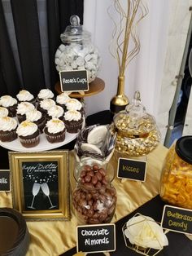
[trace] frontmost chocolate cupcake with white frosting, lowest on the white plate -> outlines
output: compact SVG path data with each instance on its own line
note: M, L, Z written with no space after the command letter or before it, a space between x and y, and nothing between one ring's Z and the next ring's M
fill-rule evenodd
M33 121L22 121L17 127L16 133L24 148L33 148L40 142L38 126Z

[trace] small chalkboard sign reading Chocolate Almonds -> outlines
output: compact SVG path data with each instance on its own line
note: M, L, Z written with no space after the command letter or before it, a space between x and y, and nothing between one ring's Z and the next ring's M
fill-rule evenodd
M78 226L76 228L77 252L98 253L116 250L115 224Z

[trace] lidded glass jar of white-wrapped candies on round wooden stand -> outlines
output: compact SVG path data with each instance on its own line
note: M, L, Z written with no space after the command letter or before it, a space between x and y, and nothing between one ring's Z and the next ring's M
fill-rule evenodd
M70 17L70 23L60 38L63 42L55 53L56 69L87 70L88 81L94 81L98 74L100 56L91 42L91 34L83 29L77 15Z

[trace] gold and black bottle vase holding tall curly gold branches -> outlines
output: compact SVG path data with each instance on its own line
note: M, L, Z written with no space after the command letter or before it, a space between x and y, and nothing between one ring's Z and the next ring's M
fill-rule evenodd
M111 15L111 7L108 8L108 14L114 24L109 48L111 55L116 58L119 68L117 95L111 99L110 103L111 113L114 114L129 104L129 99L124 95L124 73L130 61L140 51L137 25L147 15L148 8L143 0L112 0L112 2L119 16L119 22L117 22Z

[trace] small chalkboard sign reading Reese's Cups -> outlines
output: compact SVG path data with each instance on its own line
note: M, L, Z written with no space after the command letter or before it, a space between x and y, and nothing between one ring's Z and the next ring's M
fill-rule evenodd
M86 70L60 71L61 91L86 91L89 83Z

